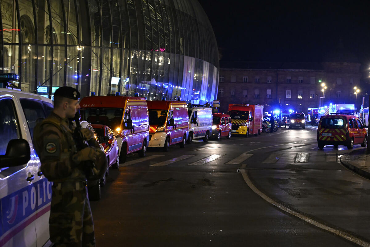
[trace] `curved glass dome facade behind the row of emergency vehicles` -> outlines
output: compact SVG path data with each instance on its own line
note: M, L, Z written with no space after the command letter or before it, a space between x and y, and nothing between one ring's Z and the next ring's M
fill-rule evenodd
M3 0L0 15L0 70L23 91L216 99L216 39L196 0Z

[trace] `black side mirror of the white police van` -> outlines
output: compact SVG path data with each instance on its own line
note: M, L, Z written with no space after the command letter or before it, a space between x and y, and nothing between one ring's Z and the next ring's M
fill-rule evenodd
M6 147L5 155L0 155L0 168L20 166L31 159L31 150L28 141L12 139Z

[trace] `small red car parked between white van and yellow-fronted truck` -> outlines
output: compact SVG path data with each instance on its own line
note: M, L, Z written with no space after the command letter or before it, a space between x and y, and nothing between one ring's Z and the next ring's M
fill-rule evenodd
M221 137L231 138L231 117L227 114L213 113L212 137L220 140Z

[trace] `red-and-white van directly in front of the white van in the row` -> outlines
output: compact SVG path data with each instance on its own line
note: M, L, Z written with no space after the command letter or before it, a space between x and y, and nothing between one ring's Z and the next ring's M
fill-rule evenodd
M188 107L185 101L148 100L149 147L162 147L168 151L170 145L185 147L189 131Z

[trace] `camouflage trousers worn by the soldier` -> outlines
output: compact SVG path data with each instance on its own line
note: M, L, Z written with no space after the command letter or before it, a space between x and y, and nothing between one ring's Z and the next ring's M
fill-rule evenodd
M56 247L95 246L87 187L79 184L65 182L52 187L49 230Z

